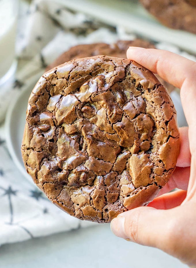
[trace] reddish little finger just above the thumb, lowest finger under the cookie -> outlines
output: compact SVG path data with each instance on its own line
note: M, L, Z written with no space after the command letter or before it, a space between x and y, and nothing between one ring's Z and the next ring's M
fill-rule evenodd
M148 207L154 207L161 210L168 210L170 208L181 205L181 203L184 201L185 198L186 198L186 191L177 190L155 198L152 202L150 202L150 204L148 204Z

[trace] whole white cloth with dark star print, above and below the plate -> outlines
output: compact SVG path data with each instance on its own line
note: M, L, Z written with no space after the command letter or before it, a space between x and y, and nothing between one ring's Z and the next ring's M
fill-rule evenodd
M63 0L35 0L30 8L20 2L17 38L18 71L15 82L6 93L10 100L21 92L31 76L44 69L62 52L77 44L113 43L117 39L135 39L124 29L104 25L92 18L73 12ZM181 52L168 44L159 48ZM186 54L185 54L186 53ZM6 105L0 90L0 113ZM93 225L69 216L53 205L33 184L30 184L14 165L0 129L0 245L50 235Z

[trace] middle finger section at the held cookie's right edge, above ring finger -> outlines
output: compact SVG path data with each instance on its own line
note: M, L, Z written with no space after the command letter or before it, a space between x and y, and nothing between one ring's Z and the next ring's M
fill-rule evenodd
M178 167L190 167L191 153L189 150L188 127L180 127L180 154L177 160Z

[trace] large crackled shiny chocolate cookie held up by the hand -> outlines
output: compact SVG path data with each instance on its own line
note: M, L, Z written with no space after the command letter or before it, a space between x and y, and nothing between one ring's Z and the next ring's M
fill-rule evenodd
M27 172L80 219L110 222L148 204L174 171L179 146L167 90L127 59L69 61L45 73L29 97Z

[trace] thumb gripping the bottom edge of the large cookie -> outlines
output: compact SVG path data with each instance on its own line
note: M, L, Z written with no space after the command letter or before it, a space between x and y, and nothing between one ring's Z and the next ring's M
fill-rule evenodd
M172 223L168 210L137 207L123 212L111 222L114 235L145 246L163 248L169 243ZM171 223L169 223L169 219Z

